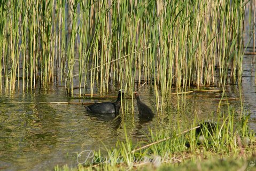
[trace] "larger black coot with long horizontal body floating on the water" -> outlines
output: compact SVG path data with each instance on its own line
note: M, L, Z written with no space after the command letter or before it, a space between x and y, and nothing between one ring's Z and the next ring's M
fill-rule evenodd
M122 92L122 97L124 96L125 95ZM92 113L115 114L115 116L117 116L119 113L120 106L121 106L121 90L119 90L117 101L115 101L114 103L112 102L95 103L93 105L84 106L84 107L86 107L87 111L90 111Z

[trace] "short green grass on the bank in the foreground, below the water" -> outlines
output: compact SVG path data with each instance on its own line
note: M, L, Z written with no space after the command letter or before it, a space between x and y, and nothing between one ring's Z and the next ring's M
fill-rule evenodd
M169 126L150 130L148 141L136 144L126 135L125 142L106 148L106 153L99 150L78 154L81 165L74 170L245 169L256 159L255 133L247 126L250 115L235 120L235 114L231 108L228 113L219 113L213 133L203 127L204 138L196 136L196 129L189 129L196 128L196 120L188 128Z

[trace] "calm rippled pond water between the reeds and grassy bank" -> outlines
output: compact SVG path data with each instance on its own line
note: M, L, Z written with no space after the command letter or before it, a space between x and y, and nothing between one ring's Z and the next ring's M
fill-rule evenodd
M252 71L249 69L252 68L251 58L246 58L245 63L247 62L242 97L245 108L253 113L250 127L256 130L254 67ZM139 92L142 100L156 112L153 89L144 86ZM116 96L117 91L113 90L110 95ZM214 99L219 99L220 96L221 92L188 94L183 114L177 115L177 97L174 95L168 101L162 100L165 105L161 118L156 117L143 123L138 118L136 104L134 115L130 110L126 117L112 121L112 116L103 118L87 113L82 105L37 103L79 102L79 99L65 95L63 87L52 86L48 90L37 90L35 94L1 95L0 169L52 170L54 166L64 164L75 167L77 153L104 149L103 144L114 146L118 139L123 141L124 122L128 136L135 142L145 137L148 127L165 127L168 123L175 124L177 120L190 123L196 113L202 120L216 118L219 101ZM227 97L239 97L238 87L227 86ZM80 102L91 100L82 99ZM133 102L127 99L126 103L130 106ZM227 103L223 104L222 110L225 110ZM229 105L238 111L240 109L239 100L232 100Z

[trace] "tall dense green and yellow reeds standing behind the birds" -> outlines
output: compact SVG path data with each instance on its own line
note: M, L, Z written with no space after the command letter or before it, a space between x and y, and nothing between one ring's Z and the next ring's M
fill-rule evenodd
M4 1L0 90L240 83L245 1Z

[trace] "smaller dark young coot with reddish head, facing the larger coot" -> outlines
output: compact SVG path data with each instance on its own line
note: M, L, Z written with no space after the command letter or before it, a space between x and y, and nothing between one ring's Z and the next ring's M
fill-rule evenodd
M141 98L139 98L139 94L137 92L134 92L134 95L137 100L139 115L142 118L148 118L148 119L153 118L154 113L152 112L151 108L149 108L149 106L147 106L145 103L141 102Z

